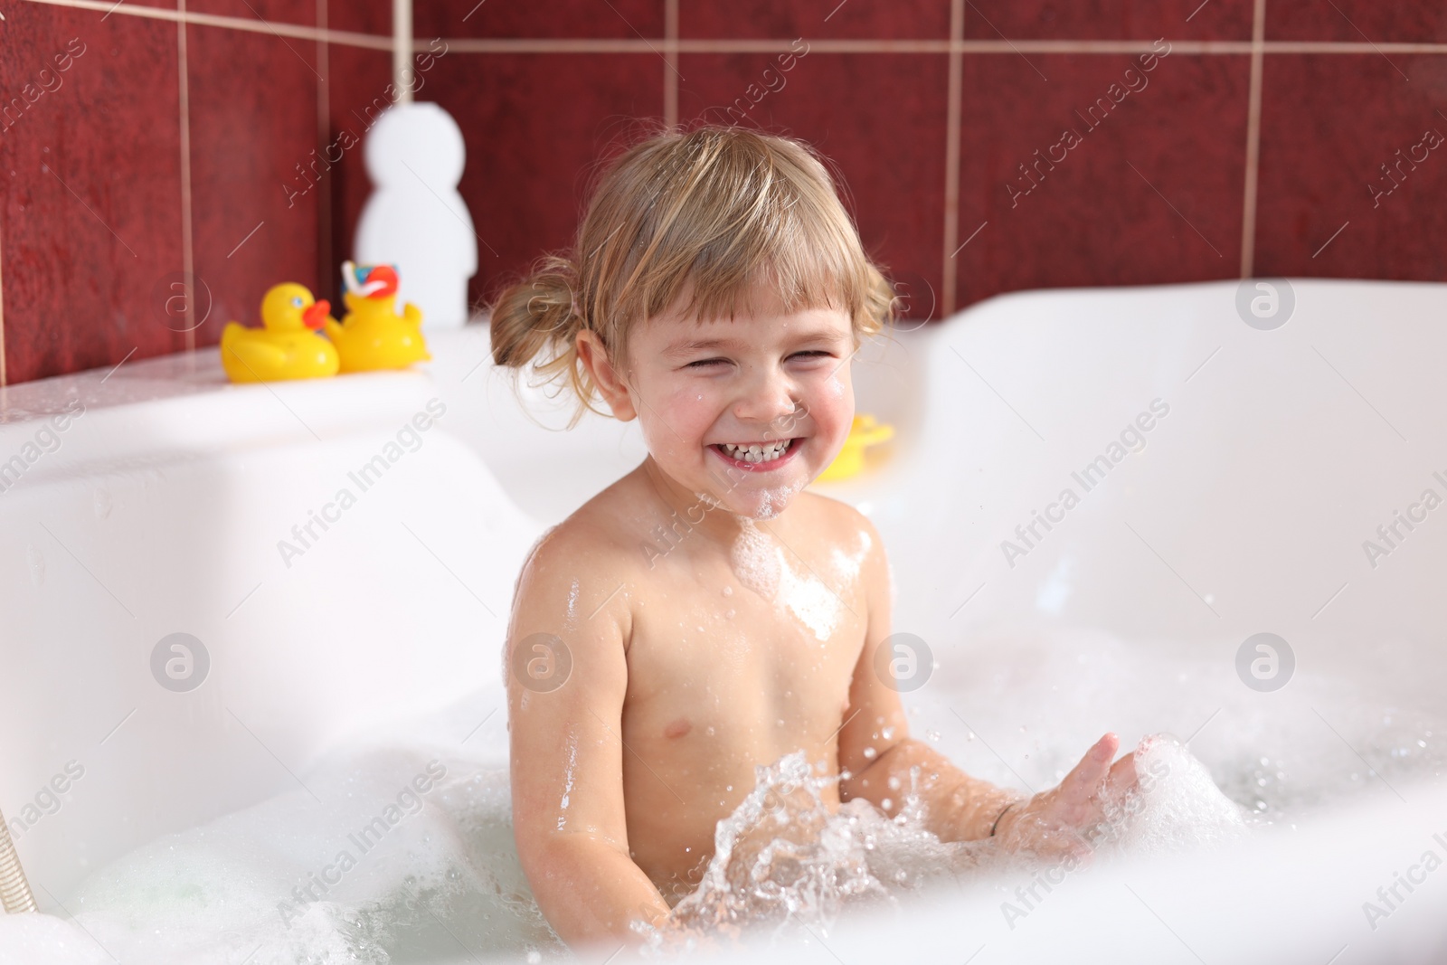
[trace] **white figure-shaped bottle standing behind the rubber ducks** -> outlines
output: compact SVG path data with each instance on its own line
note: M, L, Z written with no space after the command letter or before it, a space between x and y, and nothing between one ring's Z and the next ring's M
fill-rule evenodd
M457 192L462 129L437 104L394 104L366 137L372 197L357 221L355 258L396 265L398 305L423 310L423 330L467 321L467 279L478 273L478 236Z

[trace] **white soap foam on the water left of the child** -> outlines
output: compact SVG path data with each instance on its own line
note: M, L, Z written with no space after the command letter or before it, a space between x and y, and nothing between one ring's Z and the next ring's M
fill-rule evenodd
M518 864L506 771L449 755L446 775L415 794L437 760L328 760L305 775L323 804L298 790L139 848L65 901L75 923L35 916L17 943L0 930L0 961L45 962L13 948L58 946L67 930L75 953L49 961L88 965L96 942L109 952L100 961L148 965L388 965L457 956L459 940L561 955ZM343 854L352 861L339 864Z

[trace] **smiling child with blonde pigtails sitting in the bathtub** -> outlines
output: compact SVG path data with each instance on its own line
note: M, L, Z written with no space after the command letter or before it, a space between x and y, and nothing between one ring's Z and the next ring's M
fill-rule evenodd
M1037 852L1081 854L1106 786L1134 786L1113 734L1029 799L909 736L874 670L884 545L805 490L848 435L849 359L891 321L812 149L719 126L622 153L573 249L492 305L498 365L566 381L573 424L601 395L648 446L538 541L508 629L514 835L566 942L663 923L754 768L800 748L832 807L893 815L917 767L941 839Z

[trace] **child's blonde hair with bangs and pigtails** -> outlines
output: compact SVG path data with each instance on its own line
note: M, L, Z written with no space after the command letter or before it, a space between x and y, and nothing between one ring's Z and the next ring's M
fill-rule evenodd
M894 288L864 252L820 156L802 142L702 124L664 130L602 175L573 246L544 255L492 302L492 359L543 383L566 381L593 408L577 357L589 328L628 369L632 327L669 310L692 282L684 317L732 318L739 297L771 285L786 313L842 308L855 347L894 320ZM546 356L541 357L540 356Z

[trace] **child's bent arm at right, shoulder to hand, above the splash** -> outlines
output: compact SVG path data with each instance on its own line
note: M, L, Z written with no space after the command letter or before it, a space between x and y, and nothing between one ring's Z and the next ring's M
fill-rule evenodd
M890 635L890 574L884 543L873 524L865 519L862 525L873 538L864 567L868 629L849 686L846 723L839 731L839 768L849 774L839 783L839 796L862 797L893 817L910 790L910 770L919 767L916 790L925 804L925 826L941 841L996 835L1010 848L1081 851L1081 830L1103 813L1101 783L1108 775L1119 786L1133 784L1133 757L1126 755L1111 767L1119 741L1107 734L1059 787L1027 797L969 777L945 755L909 736L894 689L893 660L886 664L888 673L875 671L877 651ZM915 667L916 673L928 670Z

